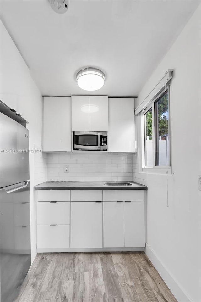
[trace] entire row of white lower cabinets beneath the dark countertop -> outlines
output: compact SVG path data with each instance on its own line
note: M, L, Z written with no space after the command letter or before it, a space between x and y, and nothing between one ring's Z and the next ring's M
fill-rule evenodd
M144 190L41 190L37 249L143 248L144 213Z

